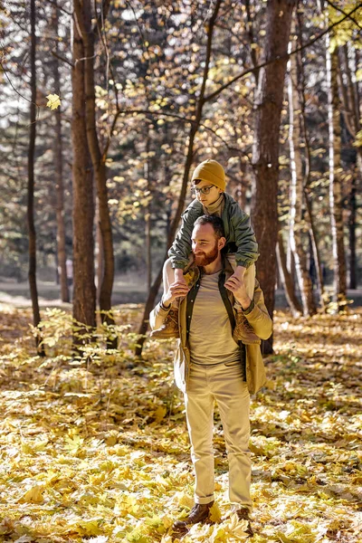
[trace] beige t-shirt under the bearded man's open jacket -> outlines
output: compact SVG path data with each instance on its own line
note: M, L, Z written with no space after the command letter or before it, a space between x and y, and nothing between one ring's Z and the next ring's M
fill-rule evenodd
M218 287L220 273L204 274L200 279L188 337L193 364L240 360L240 349L233 340L232 326Z

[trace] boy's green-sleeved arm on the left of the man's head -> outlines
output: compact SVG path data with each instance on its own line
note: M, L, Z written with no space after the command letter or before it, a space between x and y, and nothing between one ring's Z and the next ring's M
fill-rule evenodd
M197 207L202 206L198 205L198 202L192 202L186 209L185 213L182 214L182 223L179 231L177 232L174 243L172 243L170 249L168 250L168 256L171 260L171 265L176 270L185 270L186 265L189 263L188 257L191 252L191 234L194 228L195 220L200 214L198 213ZM181 277L182 272L176 271L175 278L177 275Z

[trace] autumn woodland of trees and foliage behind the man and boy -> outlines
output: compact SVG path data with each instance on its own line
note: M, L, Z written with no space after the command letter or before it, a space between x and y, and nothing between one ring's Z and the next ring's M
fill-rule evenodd
M295 310L299 295L304 315L323 308L323 281L333 278L329 293L342 300L343 267L352 287L361 267L362 10L357 2L296 4L35 1L32 98L30 11L8 2L0 76L2 276L22 279L27 265L30 100L38 106L41 271L47 264L55 277L59 266L66 300L64 259L72 257L76 319L95 324L95 275L100 310L110 310L113 268L116 275L132 269L132 281L152 284L153 305L189 201L189 172L205 157L224 164L229 192L252 214L269 310L278 233ZM288 56L288 43L299 53ZM61 114L45 109L45 96L56 91Z

